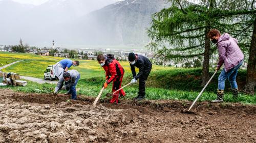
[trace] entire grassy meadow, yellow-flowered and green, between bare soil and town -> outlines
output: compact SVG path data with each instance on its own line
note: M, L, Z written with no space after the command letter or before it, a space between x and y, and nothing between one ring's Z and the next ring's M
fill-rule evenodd
M62 58L55 58L51 56L39 56L27 53L5 53L0 52L0 58L11 59L13 61L24 60L23 62L16 63L10 67L3 69L4 72L15 72L20 75L32 76L43 78L44 71L48 65L55 64ZM79 95L83 96L97 96L101 86L104 82L104 70L99 66L97 61L79 60L80 65L72 67L81 73L81 79L77 84ZM2 62L2 61L1 61ZM7 62L7 61L5 61ZM9 62L9 61L8 61ZM11 62L9 62L11 63ZM129 83L132 79L130 65L128 62L120 62L125 70L125 76L122 85ZM138 71L138 69L137 69ZM210 74L214 71L211 70ZM199 92L202 90L201 87L201 73L200 68L173 68L153 65L152 72L146 82L146 98L149 100L194 100ZM218 73L219 74L219 73ZM245 82L246 71L240 70L238 74L238 84L241 88ZM199 101L209 101L216 98L216 89L218 84L218 76L212 79L212 82L208 85L206 91L200 97ZM54 84L38 84L35 82L28 81L26 87L0 87L10 88L18 92L28 93L52 93L55 85ZM109 85L108 89L104 90L103 96L111 92L112 84ZM138 83L130 85L124 89L126 97L132 99L137 96ZM65 93L66 91L60 91ZM246 95L240 93L238 99L233 99L230 92L230 85L226 82L226 90L224 100L226 102L241 102L245 104L256 104L255 95Z

